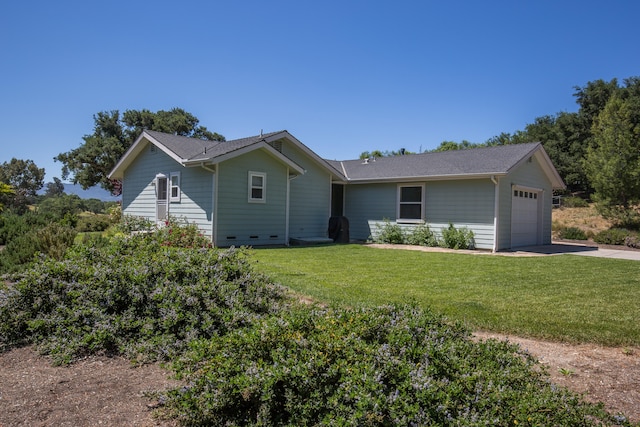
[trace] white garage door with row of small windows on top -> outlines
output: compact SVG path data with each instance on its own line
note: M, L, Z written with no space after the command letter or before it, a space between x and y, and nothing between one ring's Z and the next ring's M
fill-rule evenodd
M511 246L537 245L540 235L540 209L538 202L541 200L539 191L514 188L511 204Z

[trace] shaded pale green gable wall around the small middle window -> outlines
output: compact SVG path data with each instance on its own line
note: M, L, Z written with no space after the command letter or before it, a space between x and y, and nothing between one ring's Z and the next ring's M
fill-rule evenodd
M266 173L266 202L248 201L249 171ZM264 150L218 165L218 246L286 243L287 167Z

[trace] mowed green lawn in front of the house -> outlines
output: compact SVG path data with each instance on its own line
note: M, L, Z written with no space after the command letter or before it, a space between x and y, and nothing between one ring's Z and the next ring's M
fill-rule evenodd
M640 345L640 263L330 245L254 250L256 268L317 301L415 302L473 329Z

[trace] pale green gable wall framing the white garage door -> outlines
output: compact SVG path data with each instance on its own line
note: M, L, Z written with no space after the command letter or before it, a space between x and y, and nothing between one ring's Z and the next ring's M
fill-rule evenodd
M540 244L551 243L551 210L553 188L540 166L536 156L531 161L525 161L513 172L500 180L500 222L498 224L498 250L511 248L511 208L512 186L521 185L543 190L539 195L539 203L542 203L541 214L541 241Z

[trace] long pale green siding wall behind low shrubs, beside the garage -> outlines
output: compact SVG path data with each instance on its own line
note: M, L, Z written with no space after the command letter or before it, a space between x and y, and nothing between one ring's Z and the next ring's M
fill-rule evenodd
M451 222L474 232L476 247L493 248L495 186L489 179L430 181L425 187L425 221L440 234ZM345 214L350 236L366 240L377 232L384 219L396 221L398 186L391 184L347 185ZM400 224L410 232L415 224Z

